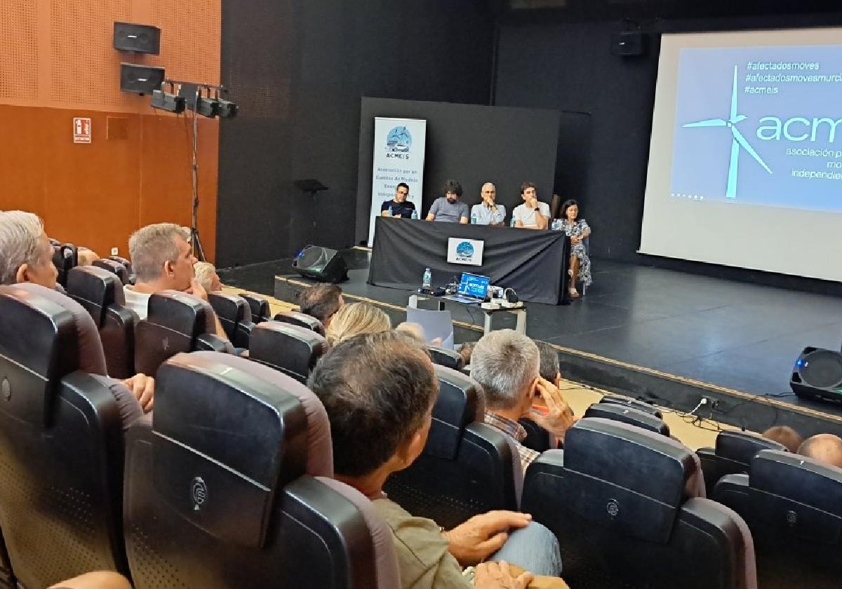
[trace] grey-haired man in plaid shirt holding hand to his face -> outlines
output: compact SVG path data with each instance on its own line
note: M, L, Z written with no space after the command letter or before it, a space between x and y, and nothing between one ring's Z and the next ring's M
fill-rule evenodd
M483 336L473 349L471 366L471 376L485 392L485 422L517 442L525 472L538 453L521 444L526 430L518 420L529 417L563 440L574 423L573 411L556 385L541 378L541 358L535 342L514 330L502 329ZM546 403L546 416L532 411L536 396Z

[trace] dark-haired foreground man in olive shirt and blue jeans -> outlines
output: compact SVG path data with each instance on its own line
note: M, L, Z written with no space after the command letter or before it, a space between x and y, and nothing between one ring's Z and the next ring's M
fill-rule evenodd
M433 521L386 498L386 478L424 449L439 392L433 364L415 339L397 332L352 337L328 350L308 386L328 412L336 478L368 496L392 528L403 587L471 587L460 565L504 560L499 555L505 553L517 554L517 564L532 572L561 572L555 537L527 514L489 512L442 533ZM525 586L529 580L515 581L502 563L492 568L477 570L473 586Z

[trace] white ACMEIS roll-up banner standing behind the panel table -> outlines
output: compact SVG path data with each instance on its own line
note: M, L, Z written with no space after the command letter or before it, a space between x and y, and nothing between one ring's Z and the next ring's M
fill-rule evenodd
M415 204L418 218L421 218L426 140L427 121L424 119L375 117L369 246L374 243L374 221L380 215L381 204L394 199L399 183L408 184L408 201Z

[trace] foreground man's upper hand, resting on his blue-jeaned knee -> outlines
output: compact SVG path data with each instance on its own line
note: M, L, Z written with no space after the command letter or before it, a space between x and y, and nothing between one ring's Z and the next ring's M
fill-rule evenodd
M474 516L442 535L447 547L462 566L476 565L497 552L509 538L509 528L525 528L532 521L528 513L488 512Z

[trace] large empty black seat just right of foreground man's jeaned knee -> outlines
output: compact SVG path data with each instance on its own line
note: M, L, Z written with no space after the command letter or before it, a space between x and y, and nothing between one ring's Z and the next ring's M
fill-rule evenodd
M556 534L572 587L754 589L751 533L700 487L681 443L589 418L530 464L521 508Z

